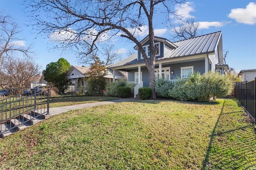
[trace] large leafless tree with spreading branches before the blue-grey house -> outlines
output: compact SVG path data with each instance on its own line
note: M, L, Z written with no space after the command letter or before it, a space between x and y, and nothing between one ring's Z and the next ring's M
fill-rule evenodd
M115 36L133 41L142 52L149 72L152 98L155 93L154 13L161 9L166 19L175 14L172 7L184 0L28 0L27 10L32 25L60 42L59 47L75 47L80 55L97 48L97 43ZM44 17L46 16L46 18ZM33 22L35 21L35 22ZM136 31L148 25L150 57L148 59ZM84 51L84 47L88 47Z

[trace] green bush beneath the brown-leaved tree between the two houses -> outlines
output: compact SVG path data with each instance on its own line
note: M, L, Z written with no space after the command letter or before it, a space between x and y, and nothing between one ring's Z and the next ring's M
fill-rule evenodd
M104 78L90 78L88 80L88 94L90 96L102 96L106 84L107 82Z

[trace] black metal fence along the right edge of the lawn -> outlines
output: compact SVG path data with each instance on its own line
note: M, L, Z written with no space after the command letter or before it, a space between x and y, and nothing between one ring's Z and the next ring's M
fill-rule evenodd
M235 86L235 98L244 106L246 111L252 115L255 120L256 117L256 78L250 82L236 83ZM256 122L256 121L255 121Z

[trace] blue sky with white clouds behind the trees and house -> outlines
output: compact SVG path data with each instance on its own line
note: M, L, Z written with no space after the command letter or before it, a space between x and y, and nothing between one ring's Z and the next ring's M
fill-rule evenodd
M24 39L20 45L33 45L34 61L42 66L42 70L51 62L59 58L66 59L71 65L85 65L79 63L72 53L62 53L60 50L50 50L52 41L45 35L33 33L32 27L27 26L28 18L22 11L22 0L0 0L0 9L12 16L20 27L19 38ZM255 0L188 0L178 14L183 19L195 18L200 23L198 33L204 35L222 31L223 53L228 51L226 64L236 72L256 68L256 1ZM160 9L161 10L161 9ZM154 34L158 37L172 39L172 27L168 26L162 15L154 17ZM173 18L173 23L178 23ZM147 35L148 26L141 27L140 39ZM127 53L133 50L134 43L115 37L114 49L122 59L128 57ZM134 51L134 50L133 50Z

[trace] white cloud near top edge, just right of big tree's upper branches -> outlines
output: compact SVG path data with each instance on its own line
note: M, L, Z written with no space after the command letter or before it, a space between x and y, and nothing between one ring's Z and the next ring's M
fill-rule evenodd
M194 18L194 16L190 15L190 12L194 12L193 2L186 2L185 4L176 5L175 11L178 16L182 18L182 20L186 20L188 18ZM179 21L179 20L176 20Z

